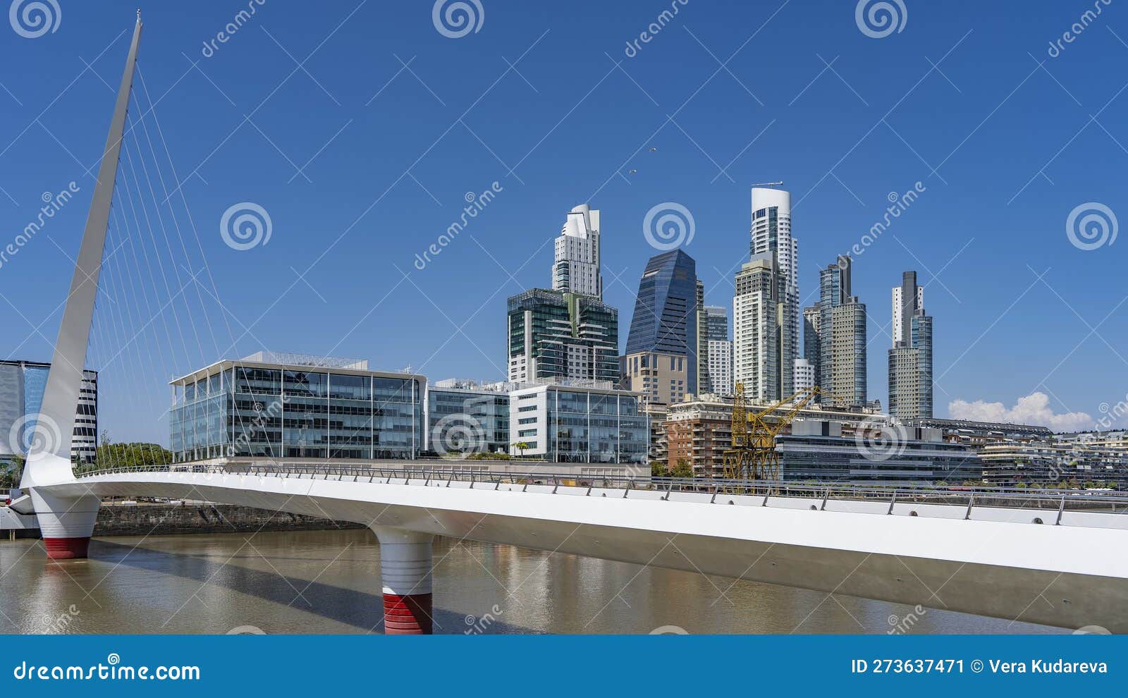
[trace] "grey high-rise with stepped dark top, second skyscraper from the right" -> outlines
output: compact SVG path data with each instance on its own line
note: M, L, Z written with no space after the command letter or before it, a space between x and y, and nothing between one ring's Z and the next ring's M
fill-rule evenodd
M819 273L819 386L836 407L865 406L865 303L851 293L851 266L839 256Z

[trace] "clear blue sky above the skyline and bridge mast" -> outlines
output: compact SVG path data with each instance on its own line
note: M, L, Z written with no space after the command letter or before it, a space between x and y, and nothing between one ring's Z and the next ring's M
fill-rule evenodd
M79 188L0 266L0 353L11 357L50 357L136 1L58 5L54 32L0 28L5 244L44 192ZM1128 215L1118 3L1096 0L1101 14L1056 56L1050 42L1092 1L904 0L904 11L888 3L900 30L872 37L852 1L676 0L633 56L627 42L670 2L481 0L478 30L457 38L437 29L432 5L266 0L206 52L247 2L142 8L148 97L132 116L147 114L149 140L138 124L126 150L139 201L150 180L158 202L174 195L164 233L149 209L164 264L150 277L123 254L120 298L99 301L104 318L116 307L118 337L142 330L114 357L114 324L96 324L90 359L115 439L167 441L157 415L169 377L262 347L501 378L505 298L550 283L552 239L583 202L602 211L620 343L655 254L642 222L656 204L691 212L685 249L707 302L731 306L749 186L772 180L792 192L804 304L818 268L882 220L891 192L924 188L855 259L871 398L887 400L890 288L916 270L935 317L937 415L963 401L960 415L1067 428L1126 399L1126 242L1085 250L1067 236L1084 204ZM495 182L465 232L415 268L466 194ZM224 244L220 221L240 202L268 212L266 245ZM111 245L125 239L112 232ZM171 302L146 325L141 298Z

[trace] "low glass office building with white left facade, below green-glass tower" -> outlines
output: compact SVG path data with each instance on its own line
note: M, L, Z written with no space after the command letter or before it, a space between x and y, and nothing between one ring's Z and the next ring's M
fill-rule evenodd
M514 456L566 463L646 462L650 427L637 394L549 385L520 388L509 397Z

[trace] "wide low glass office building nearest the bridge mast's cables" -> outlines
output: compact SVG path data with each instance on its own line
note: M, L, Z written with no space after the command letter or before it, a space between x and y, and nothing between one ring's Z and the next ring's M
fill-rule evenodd
M173 381L177 462L413 459L426 379L368 362L259 353Z

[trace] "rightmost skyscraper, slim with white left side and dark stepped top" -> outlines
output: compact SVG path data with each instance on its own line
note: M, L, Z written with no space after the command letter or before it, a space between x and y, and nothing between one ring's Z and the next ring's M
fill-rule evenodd
M893 347L889 350L889 414L898 419L932 417L932 317L924 286L905 272L892 293Z

